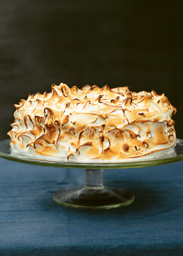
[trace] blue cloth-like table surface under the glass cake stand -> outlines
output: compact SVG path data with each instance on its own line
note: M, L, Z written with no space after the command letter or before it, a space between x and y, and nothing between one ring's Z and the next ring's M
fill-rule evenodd
M183 161L104 170L107 186L135 201L111 210L56 204L60 188L82 186L84 170L0 159L0 255L183 255Z

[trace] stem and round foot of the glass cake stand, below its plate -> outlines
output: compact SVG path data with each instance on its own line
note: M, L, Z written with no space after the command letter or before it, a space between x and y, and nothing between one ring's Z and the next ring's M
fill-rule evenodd
M53 195L56 203L82 209L111 209L134 201L131 191L103 186L103 169L86 169L84 187L61 189Z

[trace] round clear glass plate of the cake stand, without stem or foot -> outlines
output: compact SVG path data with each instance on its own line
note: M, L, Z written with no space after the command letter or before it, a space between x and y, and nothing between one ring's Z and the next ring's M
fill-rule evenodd
M178 146L181 146L181 152L178 151ZM176 156L171 156L168 154L162 157L147 158L141 161L121 161L121 162L79 162L79 161L55 161L55 159L36 159L22 157L21 154L13 155L10 153L9 139L4 139L0 141L0 157L11 161L31 164L31 165L42 165L50 167L60 167L60 168L76 168L76 169L124 169L124 168L138 168L138 167L148 167L155 165L164 165L169 163L174 163L183 160L183 140L177 139L177 144L175 146ZM9 150L9 153L7 151Z

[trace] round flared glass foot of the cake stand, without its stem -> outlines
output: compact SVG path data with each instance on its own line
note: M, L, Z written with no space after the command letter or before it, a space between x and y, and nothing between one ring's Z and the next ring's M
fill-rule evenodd
M82 209L111 209L126 206L134 201L131 191L103 187L100 190L78 187L70 190L59 190L53 195L56 203Z

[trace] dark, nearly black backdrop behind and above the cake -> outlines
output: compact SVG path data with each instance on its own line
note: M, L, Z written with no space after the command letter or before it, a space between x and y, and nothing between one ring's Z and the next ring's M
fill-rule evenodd
M0 139L15 103L61 82L164 92L183 139L182 25L173 1L2 0Z

